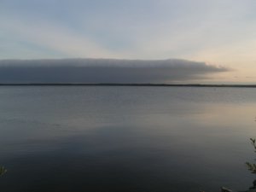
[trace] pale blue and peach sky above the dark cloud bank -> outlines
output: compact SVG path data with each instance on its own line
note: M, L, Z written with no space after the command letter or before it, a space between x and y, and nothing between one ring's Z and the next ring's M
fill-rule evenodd
M0 0L0 60L171 60L170 81L254 84L255 10L255 0ZM224 70L195 75L197 63Z

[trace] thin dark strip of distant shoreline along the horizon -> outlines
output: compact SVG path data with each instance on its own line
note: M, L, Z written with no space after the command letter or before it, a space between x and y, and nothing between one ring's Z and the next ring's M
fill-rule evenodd
M0 86L154 86L154 87L244 87L256 88L256 84L0 84Z

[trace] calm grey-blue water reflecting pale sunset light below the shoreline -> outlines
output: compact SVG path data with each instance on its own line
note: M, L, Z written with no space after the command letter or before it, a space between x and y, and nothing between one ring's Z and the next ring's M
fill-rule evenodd
M0 87L4 192L247 189L256 89Z

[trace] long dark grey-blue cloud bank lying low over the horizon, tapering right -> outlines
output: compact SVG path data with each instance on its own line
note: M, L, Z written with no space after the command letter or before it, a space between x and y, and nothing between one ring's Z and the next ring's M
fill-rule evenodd
M172 83L206 79L225 67L186 60L2 60L0 83Z

